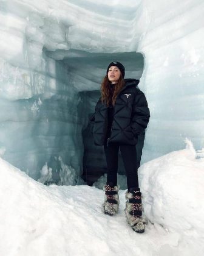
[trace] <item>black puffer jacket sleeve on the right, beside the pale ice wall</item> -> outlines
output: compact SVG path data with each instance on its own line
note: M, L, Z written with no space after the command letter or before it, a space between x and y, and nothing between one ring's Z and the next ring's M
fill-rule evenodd
M132 106L131 128L134 135L139 135L148 126L150 118L148 102L142 91L135 95Z

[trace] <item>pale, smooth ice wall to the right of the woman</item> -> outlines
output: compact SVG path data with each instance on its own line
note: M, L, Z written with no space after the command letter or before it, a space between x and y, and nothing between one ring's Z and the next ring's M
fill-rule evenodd
M148 27L137 51L146 65L141 84L151 109L143 161L182 149L185 137L204 144L203 1L144 0Z

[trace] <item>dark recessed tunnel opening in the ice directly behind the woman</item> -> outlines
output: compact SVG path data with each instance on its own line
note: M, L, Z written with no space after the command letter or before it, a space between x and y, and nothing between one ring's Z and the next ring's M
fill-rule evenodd
M81 74L86 79L83 85L78 85L79 104L77 107L78 118L81 119L83 138L83 174L82 178L87 185L93 185L101 176L106 173L106 159L104 157L103 146L95 146L92 135L92 124L89 118L94 113L95 104L100 98L100 83L106 74L107 65L113 60L117 60L126 67L126 78L140 79L143 68L143 55L136 52L123 52L114 54L88 54L83 57L69 57L63 62L67 65L67 70ZM88 66L87 66L88 65ZM80 67L75 69L75 67ZM92 76L91 76L92 74ZM80 80L78 83L80 84ZM77 80L76 80L77 83ZM86 84L85 84L86 83ZM137 162L140 166L142 148L144 144L144 132L138 137ZM123 160L119 151L118 174L125 175Z

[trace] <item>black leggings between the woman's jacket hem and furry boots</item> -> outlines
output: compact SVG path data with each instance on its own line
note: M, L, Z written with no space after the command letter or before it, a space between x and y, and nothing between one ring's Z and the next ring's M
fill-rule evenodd
M131 145L104 145L107 163L107 184L111 182L114 184L114 186L117 185L119 147L123 157L124 168L126 169L127 188L138 188L137 152L136 147Z

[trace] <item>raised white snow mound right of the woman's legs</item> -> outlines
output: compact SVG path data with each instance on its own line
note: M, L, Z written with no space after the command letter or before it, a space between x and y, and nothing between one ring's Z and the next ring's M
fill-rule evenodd
M186 149L144 163L140 168L144 212L151 222L180 234L180 243L204 241L204 158L186 140ZM188 239L189 238L189 239Z

